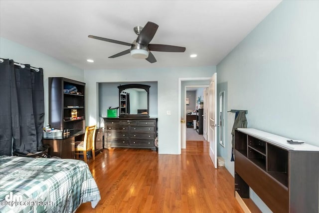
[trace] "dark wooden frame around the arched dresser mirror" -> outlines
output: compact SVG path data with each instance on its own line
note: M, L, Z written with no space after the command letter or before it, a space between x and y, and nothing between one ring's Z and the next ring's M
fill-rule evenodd
M126 89L145 89L148 93L148 114L119 114L119 118L132 118L132 117L150 117L150 87L149 85L144 84L126 84L126 85L120 85L119 88L119 107L121 106L121 92Z

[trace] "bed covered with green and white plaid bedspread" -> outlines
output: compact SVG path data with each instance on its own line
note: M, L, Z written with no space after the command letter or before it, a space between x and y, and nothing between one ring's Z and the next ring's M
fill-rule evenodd
M100 199L83 161L0 156L1 213L73 213L86 202L95 208ZM7 205L14 200L20 203Z

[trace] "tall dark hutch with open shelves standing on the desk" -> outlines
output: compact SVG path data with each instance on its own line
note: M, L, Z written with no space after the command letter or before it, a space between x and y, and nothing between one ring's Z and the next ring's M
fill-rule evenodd
M76 92L64 90L76 87ZM49 77L49 124L55 129L85 129L85 83Z

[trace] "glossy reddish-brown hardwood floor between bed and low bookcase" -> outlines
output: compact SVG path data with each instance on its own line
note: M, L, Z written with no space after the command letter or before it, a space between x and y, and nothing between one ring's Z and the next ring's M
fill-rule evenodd
M186 143L181 155L104 149L88 163L101 201L95 209L82 204L76 213L243 213L233 177L213 167L209 143Z

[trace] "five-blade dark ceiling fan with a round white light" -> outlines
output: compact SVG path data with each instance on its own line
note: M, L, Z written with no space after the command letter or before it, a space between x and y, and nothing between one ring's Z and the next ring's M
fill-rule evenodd
M184 52L185 47L181 46L171 46L165 44L150 44L153 39L156 31L158 30L159 25L148 21L144 27L136 26L134 27L134 32L138 35L137 39L133 43L127 43L123 41L113 40L109 38L102 38L94 35L89 35L89 38L99 39L102 41L108 41L112 43L122 44L130 46L130 49L124 50L123 52L117 53L110 56L109 58L116 58L128 53L131 53L131 56L134 58L146 59L150 63L154 63L157 60L151 51L160 51L160 52Z

